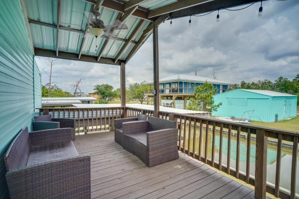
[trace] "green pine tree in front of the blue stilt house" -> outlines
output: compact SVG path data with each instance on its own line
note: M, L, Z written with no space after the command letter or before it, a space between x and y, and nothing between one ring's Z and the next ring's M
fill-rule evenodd
M213 84L209 84L207 81L194 89L194 98L190 98L188 104L188 110L196 111L216 111L222 103L214 104L212 95L217 93L217 88L214 88Z

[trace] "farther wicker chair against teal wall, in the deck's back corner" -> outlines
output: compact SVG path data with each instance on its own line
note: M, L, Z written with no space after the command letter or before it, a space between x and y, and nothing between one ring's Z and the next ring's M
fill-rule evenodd
M71 128L72 129L72 141L75 141L75 119L70 118L52 118L51 115L42 115L34 117L32 122L33 131L47 130L47 129L59 129L59 128Z

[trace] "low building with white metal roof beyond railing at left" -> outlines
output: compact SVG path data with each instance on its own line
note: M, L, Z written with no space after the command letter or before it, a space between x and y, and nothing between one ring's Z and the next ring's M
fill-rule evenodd
M92 104L92 97L42 98L42 107L66 107L72 104Z

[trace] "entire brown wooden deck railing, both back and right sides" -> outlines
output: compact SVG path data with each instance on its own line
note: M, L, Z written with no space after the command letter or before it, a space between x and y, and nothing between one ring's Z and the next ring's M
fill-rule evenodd
M104 108L55 108L39 109L39 115L51 114L53 118L76 119L76 133L87 134L94 131L113 131L114 119L124 117L136 117L138 113L153 116L154 112L147 109L131 107L104 107ZM159 112L159 117L177 122L178 150L204 162L228 175L255 186L255 196L266 198L266 192L279 198L295 198L296 167L298 157L298 132L280 129L271 129L248 124L229 121L219 121L194 115ZM219 134L219 149L216 149L215 137ZM225 137L225 139L224 139ZM189 139L190 138L190 139ZM196 138L196 139L193 139ZM209 138L211 138L209 140ZM246 138L246 149L240 147L240 138ZM248 139L250 138L250 139ZM227 141L225 141L227 139ZM267 179L267 145L268 139L277 143L276 168L268 172L275 176L274 183L268 183ZM251 151L251 141L255 142L255 154ZM290 190L280 188L280 165L282 158L283 142L288 142L292 147ZM232 145L232 143L235 143ZM218 145L218 143L217 143ZM222 151L227 146L227 150ZM231 160L232 146L236 146L236 157ZM208 148L208 147L211 147ZM219 150L219 156L215 156L215 150ZM240 151L246 150L246 169L240 171ZM222 153L226 153L226 164L222 159ZM252 162L255 156L255 174L250 175ZM244 159L244 154L242 156ZM234 168L232 165L235 165Z

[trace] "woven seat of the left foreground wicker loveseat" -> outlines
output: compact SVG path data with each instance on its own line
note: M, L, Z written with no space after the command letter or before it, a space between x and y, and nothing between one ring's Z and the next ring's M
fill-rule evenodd
M73 142L32 146L27 166L79 155Z

